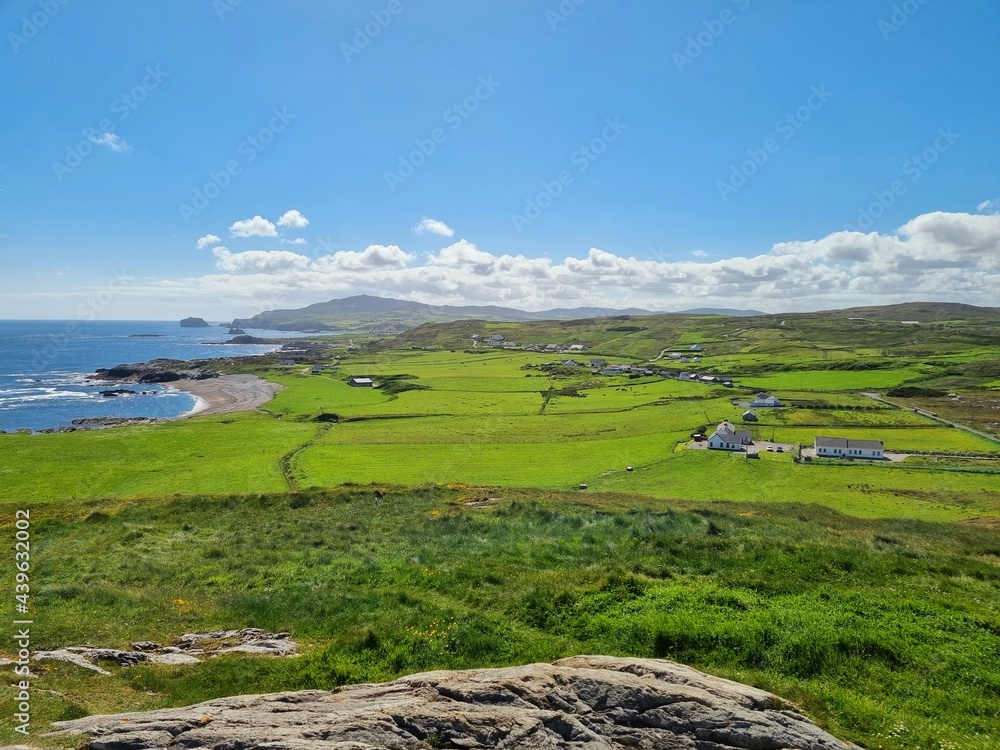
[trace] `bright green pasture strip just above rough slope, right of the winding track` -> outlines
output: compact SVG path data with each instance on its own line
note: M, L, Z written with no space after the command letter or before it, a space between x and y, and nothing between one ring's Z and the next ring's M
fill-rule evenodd
M579 442L331 444L296 456L304 487L344 482L463 482L628 492L664 499L810 502L867 518L954 521L1000 514L993 474L902 466L810 466L792 456L748 460L723 451L675 450L683 433ZM483 438L489 438L484 434ZM633 471L626 471L633 466Z

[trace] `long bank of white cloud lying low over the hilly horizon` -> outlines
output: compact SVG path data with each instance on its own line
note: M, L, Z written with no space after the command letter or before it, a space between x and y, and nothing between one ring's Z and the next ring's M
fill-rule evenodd
M244 316L360 293L526 310L594 305L773 312L912 300L994 306L1000 298L1000 214L934 212L893 233L834 232L748 256L676 261L658 260L652 251L631 257L600 248L561 260L529 258L487 252L466 240L420 264L396 245L317 259L223 247L213 253L217 270L211 275L137 283L121 294L137 309L189 308L191 299L201 299L220 318L226 306Z

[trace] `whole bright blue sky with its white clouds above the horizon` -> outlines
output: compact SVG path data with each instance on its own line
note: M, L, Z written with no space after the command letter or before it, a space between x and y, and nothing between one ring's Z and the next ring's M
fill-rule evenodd
M0 31L0 317L1000 291L996 0L0 0Z

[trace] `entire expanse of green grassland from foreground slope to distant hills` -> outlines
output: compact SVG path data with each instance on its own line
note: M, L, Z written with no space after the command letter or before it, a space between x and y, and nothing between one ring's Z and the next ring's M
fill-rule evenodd
M741 424L739 404L769 390L791 406L758 409L758 439L996 454L862 395L955 388L900 403L995 430L991 328L969 343L951 324L916 342L892 321L791 314L480 328L592 349L468 352L467 322L426 326L337 349L339 369L318 375L234 365L285 386L256 412L0 434L0 525L17 508L39 517L37 647L251 626L304 644L299 659L110 677L53 666L36 722L603 652L775 690L873 749L1000 744L996 462L686 447L695 430ZM735 388L560 365L692 343ZM838 369L860 360L876 369ZM365 375L417 389L347 385ZM451 618L447 636L426 636Z

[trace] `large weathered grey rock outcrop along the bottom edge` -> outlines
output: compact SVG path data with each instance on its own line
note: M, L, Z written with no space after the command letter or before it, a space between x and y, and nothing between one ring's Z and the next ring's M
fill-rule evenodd
M577 656L59 722L92 750L843 750L763 690L656 659Z

